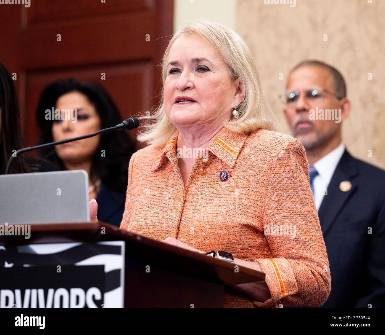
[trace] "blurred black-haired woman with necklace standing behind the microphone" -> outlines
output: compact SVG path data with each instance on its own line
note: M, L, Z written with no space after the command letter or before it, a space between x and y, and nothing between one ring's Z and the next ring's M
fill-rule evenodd
M52 108L64 111L56 117L58 120L52 120ZM121 116L102 86L67 79L53 82L43 91L37 121L42 129L40 144L94 133L121 123ZM119 226L129 158L134 152L135 145L126 132L111 131L46 148L39 155L61 170L85 170L89 175L89 199L100 200L98 219Z

